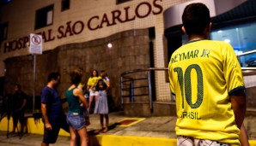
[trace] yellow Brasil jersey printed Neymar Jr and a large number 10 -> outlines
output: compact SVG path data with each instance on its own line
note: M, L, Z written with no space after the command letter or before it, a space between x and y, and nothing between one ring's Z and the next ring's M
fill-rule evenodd
M229 94L244 89L244 83L231 45L190 42L174 51L168 68L176 96L176 134L240 145Z

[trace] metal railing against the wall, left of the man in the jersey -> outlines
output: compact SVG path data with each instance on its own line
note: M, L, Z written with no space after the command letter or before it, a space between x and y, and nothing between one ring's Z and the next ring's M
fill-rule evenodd
M146 68L146 69L135 69L131 71L126 71L121 73L121 105L124 108L125 103L134 103L137 102L136 98L138 96L149 96L149 108L153 109L153 94L152 94L152 73L155 71L168 71L168 67L162 68ZM134 74L138 74L138 77ZM144 73L144 74L143 74ZM139 82L139 83L136 83ZM143 85L141 83L147 83ZM147 89L148 92L139 93L138 90L143 91ZM135 94L138 91L137 94ZM124 102L125 98L129 98L129 102Z

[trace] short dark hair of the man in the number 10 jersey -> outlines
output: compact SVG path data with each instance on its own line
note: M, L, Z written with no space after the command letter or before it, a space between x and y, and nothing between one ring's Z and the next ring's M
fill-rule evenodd
M201 35L210 25L210 11L204 3L189 4L184 9L182 22L188 35Z

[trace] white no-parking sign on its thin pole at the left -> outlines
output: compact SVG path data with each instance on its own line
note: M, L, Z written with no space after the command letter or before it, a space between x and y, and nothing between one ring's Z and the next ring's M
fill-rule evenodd
M42 36L34 33L30 33L30 45L29 53L34 55L34 72L33 72L33 114L34 114L34 102L35 102L35 69L36 69L36 55L41 55L42 50Z

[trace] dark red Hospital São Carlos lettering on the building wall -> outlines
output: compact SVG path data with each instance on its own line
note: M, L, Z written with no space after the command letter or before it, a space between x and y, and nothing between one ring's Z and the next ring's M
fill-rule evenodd
M89 31L95 31L105 26L114 26L118 23L125 23L136 19L143 19L145 17L148 17L149 15L159 15L162 13L163 10L161 2L162 0L153 0L152 3L138 3L135 9L131 9L131 7L125 7L124 9L116 9L111 11L110 14L105 13L103 15L94 15L90 17L86 22L82 20L68 21L66 22L66 24L58 26L57 31L52 31L52 29L48 29L44 32L38 32L36 34L42 35L42 38L46 43L56 39L78 35L85 30L86 25ZM131 13L134 13L134 15L131 15ZM53 34L52 32L56 33ZM28 35L6 42L4 43L3 53L26 48L28 42Z

